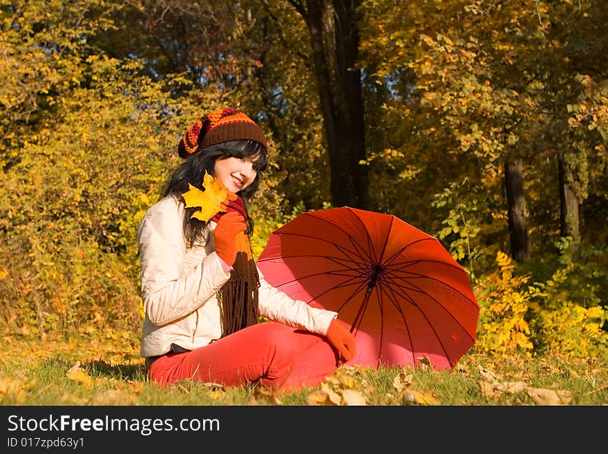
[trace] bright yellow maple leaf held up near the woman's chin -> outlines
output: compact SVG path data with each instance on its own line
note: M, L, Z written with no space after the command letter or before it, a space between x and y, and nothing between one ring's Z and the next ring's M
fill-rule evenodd
M188 186L189 190L182 193L186 207L200 207L200 211L193 213L191 218L202 220L205 223L220 211L224 211L230 200L236 200L238 197L235 193L228 191L220 180L213 178L207 172L202 178L202 187L205 191L190 184Z

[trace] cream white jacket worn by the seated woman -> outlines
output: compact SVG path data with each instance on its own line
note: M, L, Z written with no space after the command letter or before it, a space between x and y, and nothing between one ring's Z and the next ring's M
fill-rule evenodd
M184 206L172 197L159 200L146 211L137 229L141 261L144 328L142 357L169 352L171 343L193 350L222 334L216 292L229 274L222 269L213 236L207 245L186 247ZM209 233L216 223L209 223ZM336 312L312 308L267 283L260 274L258 308L270 320L325 334Z

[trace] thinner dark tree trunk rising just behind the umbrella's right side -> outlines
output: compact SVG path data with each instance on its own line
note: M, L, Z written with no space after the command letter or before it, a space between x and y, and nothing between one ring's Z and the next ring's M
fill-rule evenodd
M518 263L524 263L530 258L530 240L526 219L526 197L524 196L521 158L516 158L513 162L505 164L504 183L506 202L509 206L511 257Z

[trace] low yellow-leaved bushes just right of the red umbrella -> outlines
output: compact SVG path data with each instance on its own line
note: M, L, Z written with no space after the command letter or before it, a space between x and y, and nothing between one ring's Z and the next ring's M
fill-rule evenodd
M511 258L497 253L499 269L476 287L479 328L476 348L501 357L529 357L533 352L568 358L606 355L608 311L571 301L569 275L577 266L557 269L545 283L524 287L530 276L517 276Z

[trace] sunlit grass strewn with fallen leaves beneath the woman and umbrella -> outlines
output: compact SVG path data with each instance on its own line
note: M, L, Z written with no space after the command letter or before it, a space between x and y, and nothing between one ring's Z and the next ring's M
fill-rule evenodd
M453 370L343 366L324 384L285 395L261 386L146 378L137 341L0 337L0 404L28 406L526 406L608 404L605 359L497 360L469 352Z

